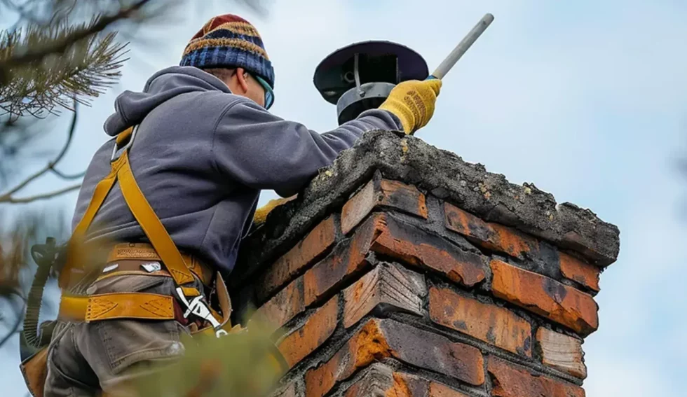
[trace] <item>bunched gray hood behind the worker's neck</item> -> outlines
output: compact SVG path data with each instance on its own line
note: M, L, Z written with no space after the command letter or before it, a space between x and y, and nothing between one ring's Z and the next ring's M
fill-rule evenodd
M114 102L114 113L105 120L111 137L137 125L157 106L186 92L220 91L231 94L219 78L196 67L168 67L147 81L143 92L124 91Z

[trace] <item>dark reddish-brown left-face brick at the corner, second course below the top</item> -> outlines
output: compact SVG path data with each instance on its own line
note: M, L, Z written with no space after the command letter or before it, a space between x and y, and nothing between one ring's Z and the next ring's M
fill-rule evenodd
M341 242L332 253L311 267L304 275L305 303L311 305L365 267L370 244L386 228L386 216L376 214L367 219L353 237Z

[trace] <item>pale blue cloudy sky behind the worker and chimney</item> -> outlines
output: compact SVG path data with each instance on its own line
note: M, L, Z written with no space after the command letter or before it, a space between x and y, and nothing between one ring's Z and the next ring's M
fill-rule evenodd
M583 344L587 396L683 396L687 174L679 161L687 157L687 3L274 0L266 18L229 1L199 4L166 29L132 38L120 84L81 112L63 171L85 169L107 140L102 123L118 92L140 90L155 71L177 64L213 15L240 13L258 27L276 68L271 111L326 132L336 127L336 107L312 78L327 54L384 39L418 51L432 70L493 13L491 27L444 78L435 116L416 136L618 225L620 256L601 274L595 298L599 330ZM60 134L41 144L56 148ZM60 186L46 177L25 194ZM261 204L274 197L264 192ZM71 214L75 201L72 194L32 207L63 206ZM0 349L0 384L8 396L24 393L16 341Z

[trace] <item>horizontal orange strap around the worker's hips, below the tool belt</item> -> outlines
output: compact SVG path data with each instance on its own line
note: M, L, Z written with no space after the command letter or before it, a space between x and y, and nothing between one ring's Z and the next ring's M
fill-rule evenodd
M103 293L91 296L63 295L57 318L62 321L108 319L173 320L171 296L156 293Z

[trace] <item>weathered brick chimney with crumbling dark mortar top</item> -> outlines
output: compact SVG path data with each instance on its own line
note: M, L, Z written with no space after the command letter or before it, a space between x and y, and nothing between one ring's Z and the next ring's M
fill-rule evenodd
M276 396L578 397L618 228L415 137L372 132L243 242L237 318Z

